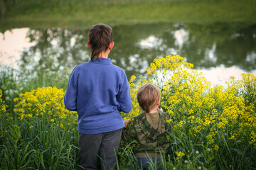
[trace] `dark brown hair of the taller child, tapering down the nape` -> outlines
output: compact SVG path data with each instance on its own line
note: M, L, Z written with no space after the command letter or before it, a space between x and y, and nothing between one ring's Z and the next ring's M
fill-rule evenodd
M88 38L91 45L91 60L97 59L100 52L105 52L112 42L112 28L104 23L98 23L92 26L88 32Z

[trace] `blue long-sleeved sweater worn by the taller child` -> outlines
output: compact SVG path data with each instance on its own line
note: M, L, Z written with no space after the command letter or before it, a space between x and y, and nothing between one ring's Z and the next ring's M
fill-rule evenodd
M79 64L70 75L64 103L68 110L78 112L78 131L83 134L124 128L120 112L132 110L124 70L109 58Z

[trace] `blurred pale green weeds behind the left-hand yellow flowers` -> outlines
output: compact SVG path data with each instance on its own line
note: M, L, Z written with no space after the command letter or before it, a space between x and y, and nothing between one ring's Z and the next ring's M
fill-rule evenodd
M0 89L3 100L6 102L9 111L14 111L14 98L19 94L37 89L38 87L56 86L58 89L66 89L68 85L68 73L57 72L20 72L11 67L0 66ZM14 116L16 116L14 114Z

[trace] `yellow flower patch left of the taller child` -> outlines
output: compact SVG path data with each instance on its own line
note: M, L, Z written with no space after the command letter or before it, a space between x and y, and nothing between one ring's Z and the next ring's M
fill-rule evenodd
M20 94L20 97L14 98L14 112L19 120L44 118L48 123L76 123L78 115L65 109L64 94L63 89L56 87L43 87Z

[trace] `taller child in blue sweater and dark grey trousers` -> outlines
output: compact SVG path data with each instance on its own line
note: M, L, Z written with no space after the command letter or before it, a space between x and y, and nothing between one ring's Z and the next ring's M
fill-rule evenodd
M124 123L120 112L129 113L132 101L123 69L112 64L108 55L114 47L112 28L92 26L88 32L89 62L73 69L65 92L65 108L78 112L81 166L115 169L114 149L118 149Z

